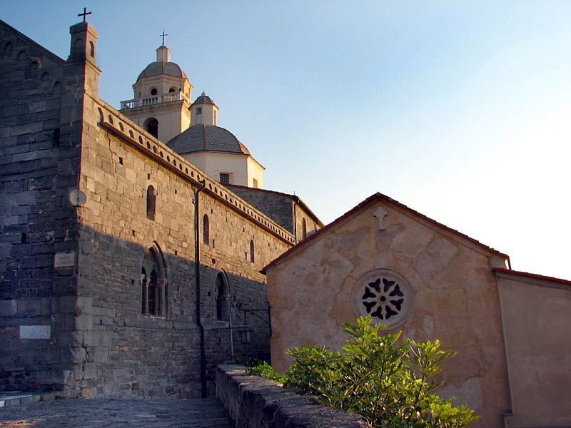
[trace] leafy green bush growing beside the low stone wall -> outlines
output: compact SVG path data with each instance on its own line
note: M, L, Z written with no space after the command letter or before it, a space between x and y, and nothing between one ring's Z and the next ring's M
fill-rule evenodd
M345 323L350 339L343 353L305 345L288 350L295 361L283 383L322 404L362 414L374 427L455 428L479 419L433 394L442 384L433 379L440 363L453 356L438 349L438 340L398 345L401 332L380 336L379 329L370 316L360 317L356 325Z

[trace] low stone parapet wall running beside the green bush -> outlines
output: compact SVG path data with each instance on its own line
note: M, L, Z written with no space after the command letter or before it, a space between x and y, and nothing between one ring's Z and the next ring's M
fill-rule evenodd
M359 414L315 404L292 388L263 377L243 376L244 372L238 365L219 365L216 370L216 398L228 410L234 427L370 427Z

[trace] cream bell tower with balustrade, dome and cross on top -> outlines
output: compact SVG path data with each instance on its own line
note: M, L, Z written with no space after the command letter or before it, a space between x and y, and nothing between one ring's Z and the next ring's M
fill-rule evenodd
M171 49L156 50L133 85L134 98L121 101L121 113L152 136L166 143L191 126L192 85L178 64L171 62Z

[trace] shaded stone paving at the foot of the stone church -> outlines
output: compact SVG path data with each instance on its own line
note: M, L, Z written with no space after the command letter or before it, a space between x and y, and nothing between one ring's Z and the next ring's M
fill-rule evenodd
M0 408L0 427L231 428L217 399L56 399Z

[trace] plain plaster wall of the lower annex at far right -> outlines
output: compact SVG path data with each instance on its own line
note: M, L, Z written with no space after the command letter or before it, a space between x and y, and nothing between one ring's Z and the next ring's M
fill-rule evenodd
M571 286L499 277L515 426L571 424Z

